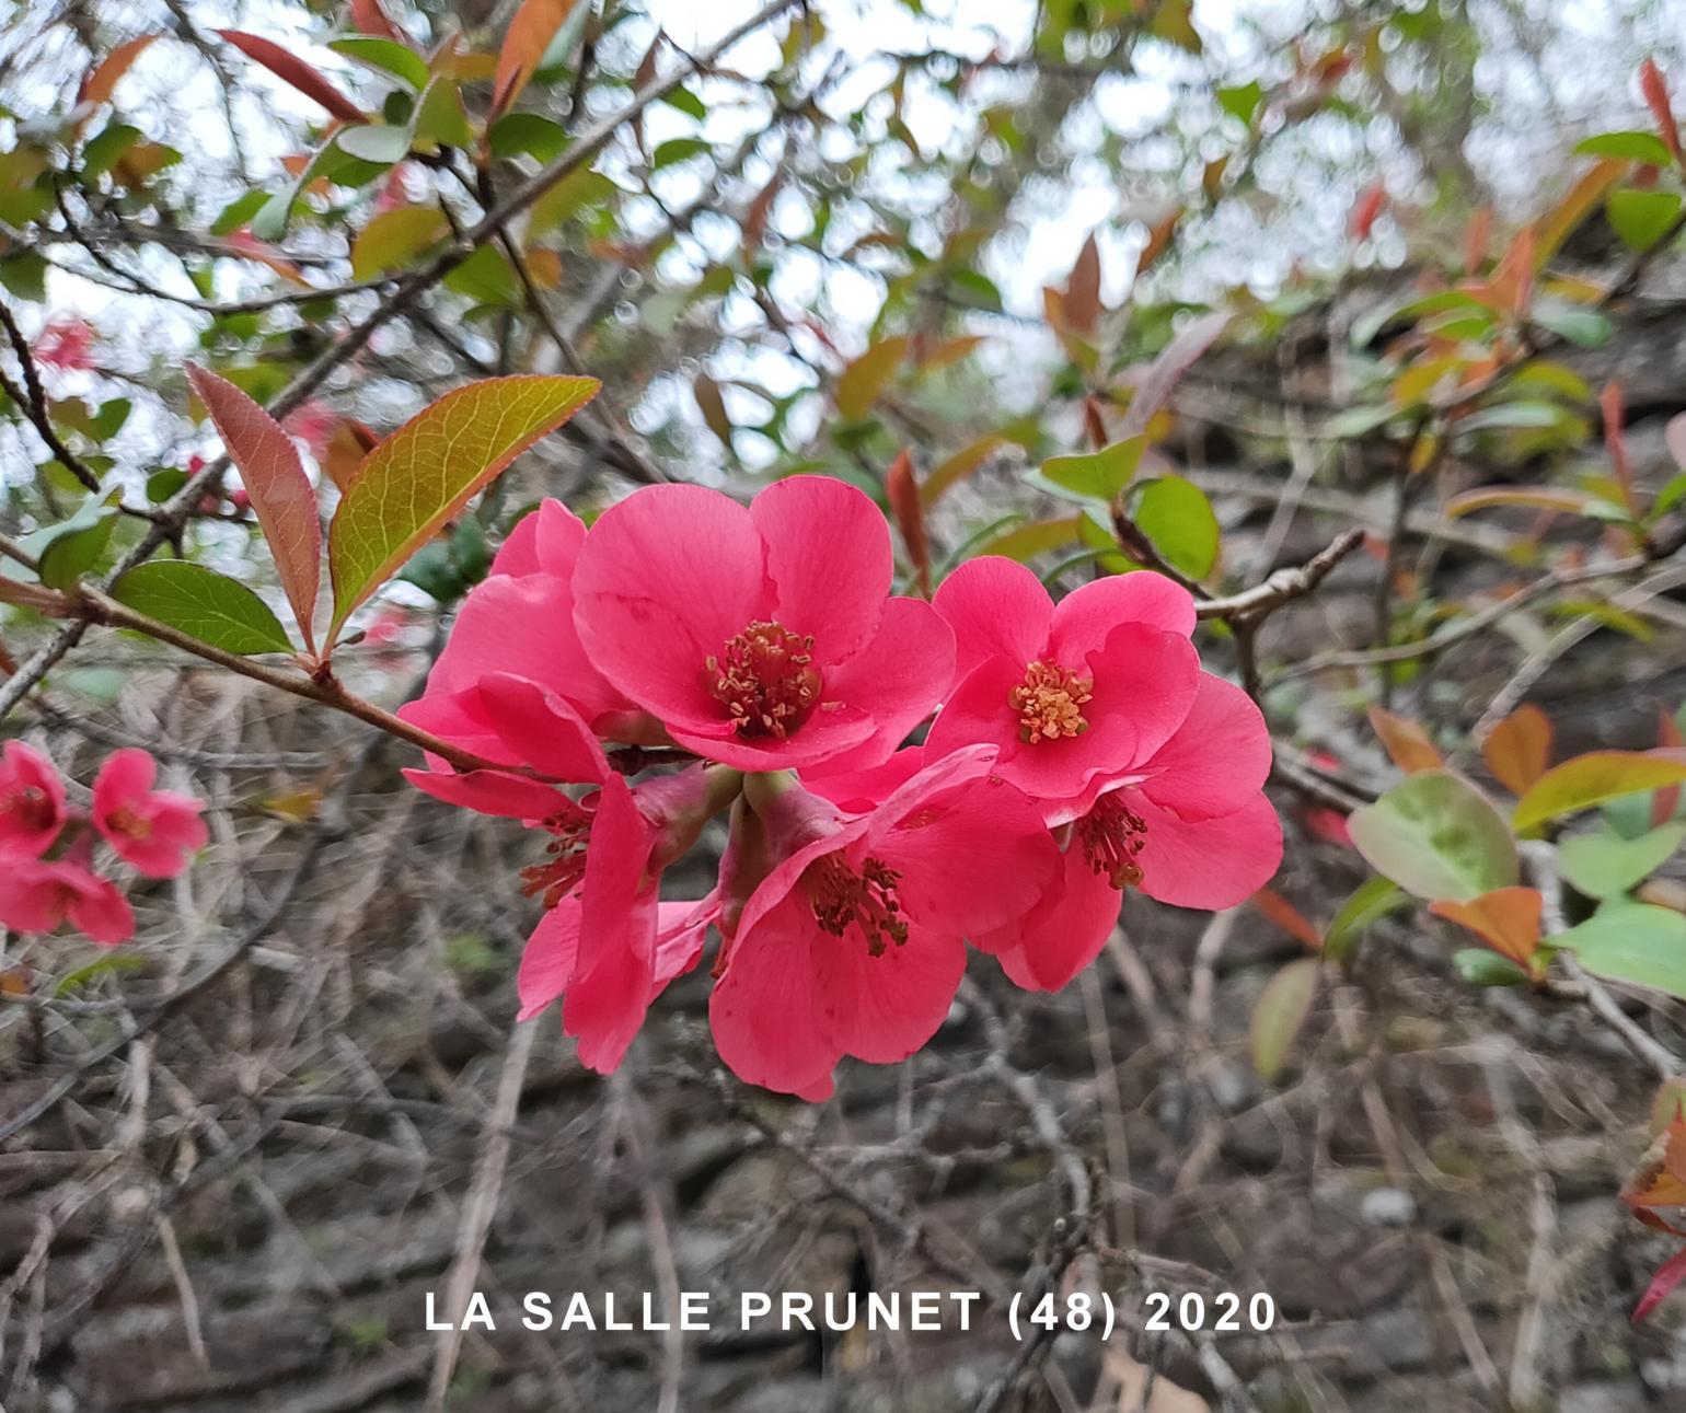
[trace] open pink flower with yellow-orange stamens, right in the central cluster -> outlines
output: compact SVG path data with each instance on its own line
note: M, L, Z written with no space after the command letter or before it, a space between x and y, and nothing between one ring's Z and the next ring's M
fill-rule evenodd
M926 739L936 757L1000 747L996 772L1044 801L1071 801L1153 755L1194 705L1194 600L1157 573L1086 583L1054 604L1023 565L969 560L937 588L954 629L958 685Z

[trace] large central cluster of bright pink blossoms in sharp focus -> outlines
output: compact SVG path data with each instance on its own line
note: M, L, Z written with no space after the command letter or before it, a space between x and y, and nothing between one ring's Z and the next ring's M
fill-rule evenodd
M1055 605L980 558L926 604L892 575L872 501L797 475L747 508L649 487L590 531L546 501L469 595L405 717L487 766L410 777L548 836L523 1013L561 998L585 1064L620 1062L710 927L722 1057L823 1098L843 1056L931 1039L968 941L1057 990L1125 889L1227 907L1276 870L1270 739L1200 669L1184 588L1131 573ZM717 887L663 900L717 814Z

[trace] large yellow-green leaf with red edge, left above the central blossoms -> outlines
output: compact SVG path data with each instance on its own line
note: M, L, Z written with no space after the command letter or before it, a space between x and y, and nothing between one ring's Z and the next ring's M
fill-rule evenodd
M595 378L487 378L447 393L369 452L329 528L329 642L475 491L561 427L599 386Z

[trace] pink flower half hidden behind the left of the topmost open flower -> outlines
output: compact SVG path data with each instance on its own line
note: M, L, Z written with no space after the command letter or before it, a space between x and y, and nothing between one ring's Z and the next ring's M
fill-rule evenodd
M502 673L563 700L592 730L654 744L659 728L597 671L573 631L573 565L585 524L558 501L523 519L470 590L420 700L400 717L487 759L516 764L497 732L475 715L472 688ZM528 762L531 764L531 762ZM595 776L561 779L593 781Z

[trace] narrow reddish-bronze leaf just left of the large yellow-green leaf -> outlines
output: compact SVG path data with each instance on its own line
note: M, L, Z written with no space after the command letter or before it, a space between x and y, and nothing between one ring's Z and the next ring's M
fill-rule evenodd
M192 363L187 381L211 413L229 460L239 467L305 647L315 653L312 624L322 580L322 526L315 489L298 462L298 450L282 425L233 383Z

